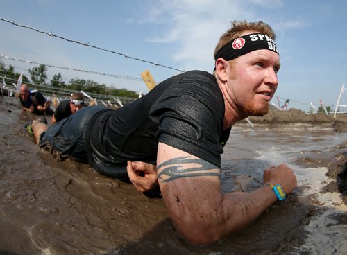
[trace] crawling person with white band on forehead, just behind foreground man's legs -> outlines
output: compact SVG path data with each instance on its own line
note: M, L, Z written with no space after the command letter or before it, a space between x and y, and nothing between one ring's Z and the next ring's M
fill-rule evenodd
M52 123L61 121L64 118L74 114L85 106L84 96L81 92L71 94L71 100L63 100L60 102L52 116Z

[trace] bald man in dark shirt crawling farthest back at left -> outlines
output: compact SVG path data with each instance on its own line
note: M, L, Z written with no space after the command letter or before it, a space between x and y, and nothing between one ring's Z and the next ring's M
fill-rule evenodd
M53 115L54 111L51 109L51 101L45 98L40 91L30 90L26 84L20 88L19 98L22 109L26 112L32 112L37 115Z

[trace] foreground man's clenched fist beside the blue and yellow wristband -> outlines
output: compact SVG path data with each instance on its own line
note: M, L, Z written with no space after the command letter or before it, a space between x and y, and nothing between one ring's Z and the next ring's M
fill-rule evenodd
M273 185L280 184L284 189L286 195L296 188L296 176L293 169L289 168L286 164L279 166L270 166L264 171L264 184L270 183Z

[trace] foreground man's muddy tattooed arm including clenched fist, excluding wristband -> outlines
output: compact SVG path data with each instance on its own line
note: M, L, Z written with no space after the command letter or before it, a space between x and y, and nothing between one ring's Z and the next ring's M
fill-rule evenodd
M189 242L215 243L253 222L276 196L269 186L250 193L221 193L220 169L164 143L158 146L158 181L177 231ZM264 182L281 184L287 194L296 186L290 168L267 170Z

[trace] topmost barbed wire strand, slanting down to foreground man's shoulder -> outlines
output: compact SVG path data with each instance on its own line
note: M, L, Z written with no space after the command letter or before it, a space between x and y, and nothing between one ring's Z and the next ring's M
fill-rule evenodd
M157 67L164 67L164 68L167 68L167 69L172 69L172 70L176 70L176 71L180 71L181 73L185 72L183 69L177 69L177 68L174 68L174 67L169 67L169 66L166 66L164 64L159 64L158 62L152 62L152 61L149 61L149 60L142 60L141 58L134 58L134 57L131 57L130 55L128 54L125 54L125 53L119 53L117 51L112 51L112 50L108 50L108 49L103 49L99 46L94 46L94 45L90 45L88 42L85 43L85 42L78 42L77 40L74 40L74 39L67 39L65 37L62 37L60 35L54 35L52 32L51 33L47 33L45 31L42 31L42 30L38 30L37 28L31 28L30 26L25 26L25 25L22 25L22 24L17 24L15 23L15 21L10 21L8 19L3 19L0 17L0 21L5 21L7 23L10 23L14 26L19 26L21 28L27 28L27 29L30 29L30 30L33 30L37 33L42 33L44 35L49 35L51 37L57 37L59 39L62 39L62 40L65 40L67 42L73 42L73 43L76 43L76 44L81 44L83 46L87 46L87 47L91 47L91 48L94 48L94 49L99 49L101 51L106 51L106 52L109 52L109 53L113 53L113 54L117 54L117 55L121 55L123 56L124 58L129 58L131 60L137 60L137 61L140 61L140 62L145 62L145 63L148 63L148 64L153 64Z

